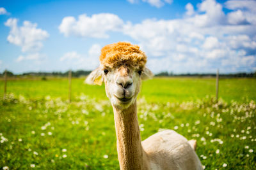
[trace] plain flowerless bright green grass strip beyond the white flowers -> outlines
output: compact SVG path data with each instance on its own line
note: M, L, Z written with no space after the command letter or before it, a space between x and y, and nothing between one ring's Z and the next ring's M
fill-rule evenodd
M97 99L108 99L104 85L86 85L83 78L72 79L72 96L81 93ZM235 101L256 100L256 80L253 78L220 79L219 96L228 103ZM214 78L154 78L143 81L139 97L145 96L148 102L182 102L196 101L205 96L215 96ZM3 89L3 81L0 81ZM68 97L68 80L66 78L49 78L42 80L12 80L8 81L8 92L22 96L40 99L45 96ZM0 95L3 96L3 90Z

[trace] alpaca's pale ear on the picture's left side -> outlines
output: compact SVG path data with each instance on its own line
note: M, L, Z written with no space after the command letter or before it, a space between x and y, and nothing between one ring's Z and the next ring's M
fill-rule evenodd
M102 77L102 69L98 67L92 73L89 74L89 76L86 78L84 83L87 83L89 85L101 85L103 81Z

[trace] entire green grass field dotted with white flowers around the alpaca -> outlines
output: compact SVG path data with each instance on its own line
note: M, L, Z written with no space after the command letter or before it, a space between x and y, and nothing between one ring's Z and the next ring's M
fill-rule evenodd
M255 169L256 79L154 78L138 96L141 138L175 129L196 139L205 169ZM3 81L0 81L3 89ZM0 93L0 168L118 169L113 111L104 86L68 81L8 81Z

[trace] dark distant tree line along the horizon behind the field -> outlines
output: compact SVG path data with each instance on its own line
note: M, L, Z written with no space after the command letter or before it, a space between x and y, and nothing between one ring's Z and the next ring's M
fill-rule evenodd
M88 76L92 71L84 71L84 70L77 70L72 71L72 77L80 77L80 76ZM0 73L0 76L4 76L4 72ZM68 71L61 72L61 71L53 71L53 72L28 72L22 74L13 74L11 71L7 71L7 76L60 76L60 77L67 77ZM196 76L196 77L207 77L207 76L216 76L214 73L186 73L186 74L173 74L172 72L168 73L167 71L157 73L155 76ZM220 74L221 77L248 77L248 78L256 78L256 71L254 73L230 73L230 74Z

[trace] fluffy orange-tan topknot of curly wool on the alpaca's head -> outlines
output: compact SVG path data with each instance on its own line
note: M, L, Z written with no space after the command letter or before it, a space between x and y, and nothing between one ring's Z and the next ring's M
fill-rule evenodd
M107 67L121 65L144 67L147 56L140 50L140 46L131 43L118 42L106 45L101 50L100 64Z

